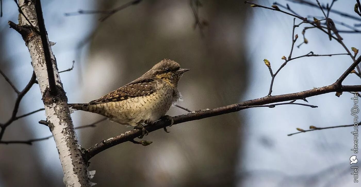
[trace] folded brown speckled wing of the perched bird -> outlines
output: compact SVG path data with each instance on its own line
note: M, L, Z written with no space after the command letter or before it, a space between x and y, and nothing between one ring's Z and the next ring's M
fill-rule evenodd
M127 98L150 95L156 91L156 84L157 81L154 79L136 79L90 103L122 101Z

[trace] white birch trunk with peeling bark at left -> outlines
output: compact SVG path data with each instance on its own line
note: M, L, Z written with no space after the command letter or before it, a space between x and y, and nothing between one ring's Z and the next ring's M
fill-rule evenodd
M20 0L19 5L32 25L38 28L34 0ZM9 25L22 35L29 49L32 66L43 95L48 126L53 134L63 168L64 183L67 187L88 187L90 181L87 172L87 161L84 160L82 148L74 132L68 108L68 98L60 81L56 59L51 47L49 47L51 60L58 88L58 95L56 96L49 93L48 74L40 35L31 29L29 22L22 14L19 14L18 25L13 22L9 22Z

